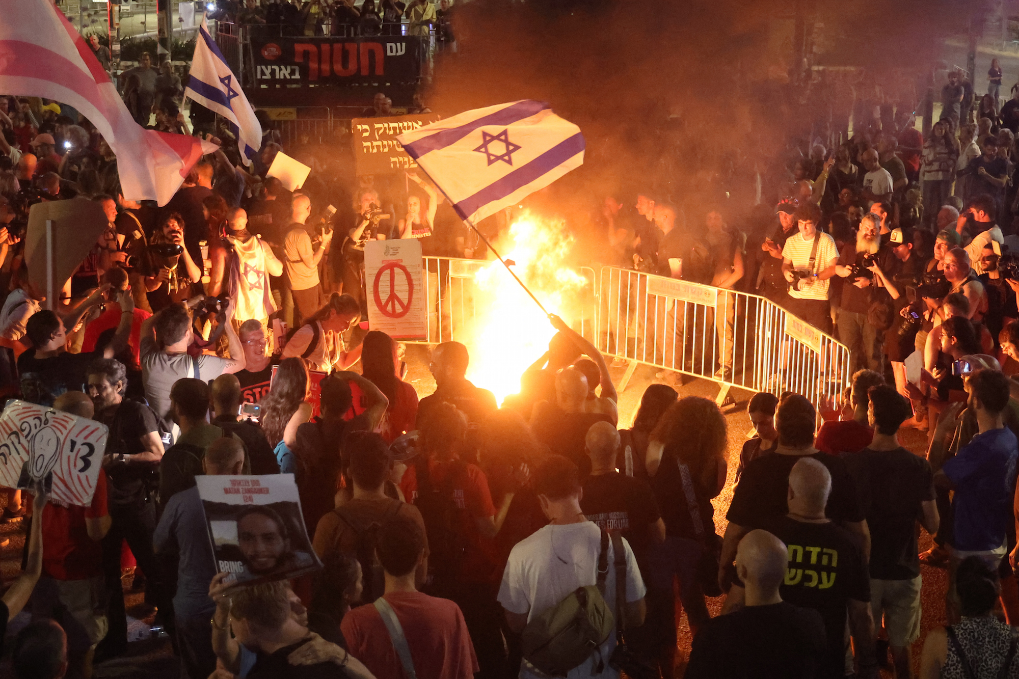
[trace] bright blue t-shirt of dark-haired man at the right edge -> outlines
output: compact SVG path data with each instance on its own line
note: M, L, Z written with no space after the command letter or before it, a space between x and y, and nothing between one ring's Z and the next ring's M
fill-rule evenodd
M956 550L988 552L1005 542L1012 521L1016 457L1016 435L1003 427L976 434L942 467L955 485Z

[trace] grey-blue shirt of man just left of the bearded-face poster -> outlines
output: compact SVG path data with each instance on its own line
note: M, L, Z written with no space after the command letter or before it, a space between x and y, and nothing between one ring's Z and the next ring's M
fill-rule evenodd
M198 486L173 493L166 503L152 538L156 552L176 552L177 593L173 614L178 618L208 618L216 605L209 598L209 583L216 575L216 561L205 521Z

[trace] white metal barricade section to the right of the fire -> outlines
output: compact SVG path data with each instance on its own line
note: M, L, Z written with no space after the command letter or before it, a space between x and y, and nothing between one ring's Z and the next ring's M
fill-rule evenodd
M597 342L604 354L815 405L848 385L849 350L757 295L614 266L601 269Z

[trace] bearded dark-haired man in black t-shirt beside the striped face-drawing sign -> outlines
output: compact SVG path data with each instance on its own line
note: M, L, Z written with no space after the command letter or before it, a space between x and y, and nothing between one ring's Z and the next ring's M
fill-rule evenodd
M103 537L103 574L110 594L106 614L109 631L96 649L96 662L100 662L127 647L127 619L120 585L120 545L124 540L148 580L146 602L163 608L157 600L161 571L152 551L156 511L147 481L159 469L164 439L152 408L124 399L127 370L122 363L100 359L89 366L88 373L95 419L110 431L103 456L111 519L110 530Z

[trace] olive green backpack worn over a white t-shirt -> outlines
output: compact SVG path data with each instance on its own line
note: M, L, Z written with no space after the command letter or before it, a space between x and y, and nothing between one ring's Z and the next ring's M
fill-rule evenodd
M597 584L578 587L527 624L521 643L528 663L549 676L565 677L598 650L615 628L604 597L607 574L608 533L602 528ZM603 669L600 659L596 672Z

